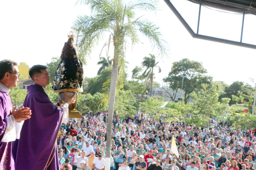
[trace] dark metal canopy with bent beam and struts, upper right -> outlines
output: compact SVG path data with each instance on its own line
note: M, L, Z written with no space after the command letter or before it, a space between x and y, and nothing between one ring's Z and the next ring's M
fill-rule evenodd
M197 33L195 33L192 28L188 25L188 23L185 21L185 19L181 16L181 14L179 14L179 12L176 10L176 8L174 7L174 5L171 3L170 0L164 0L165 3L168 5L168 7L173 11L173 13L176 15L176 17L179 19L179 21L182 23L182 25L186 28L186 30L189 32L189 34L193 37L193 38L198 38L198 39L202 39L202 40L208 40L208 41L214 41L214 42L220 42L220 43L224 43L224 44L230 44L230 45L236 45L236 46L240 46L240 47L246 47L246 48L252 48L252 49L256 49L256 45L253 45L253 44L247 44L247 43L243 43L242 42L242 37L243 37L243 21L244 21L244 18L245 18L245 13L248 12L246 11L245 12L245 5L242 9L242 13L243 13L243 20L242 20L242 29L241 29L241 38L240 38L240 42L239 41L232 41L232 40L226 40L226 39L223 39L223 38L216 38L216 37L211 37L211 36L205 36L205 35L201 35L199 34L199 23L200 23L200 12L201 12L201 6L202 6L202 3L204 1L204 3L206 3L206 1L216 1L216 0L189 0L189 1L193 1L195 3L197 3L197 1L199 1L199 15L198 15L198 27L197 27ZM218 0L219 2L223 2L224 0ZM237 1L249 1L249 0L237 0ZM252 0L250 0L252 1ZM254 1L254 4L255 4L255 0ZM225 2L227 2L227 0L225 0ZM240 5L241 7L241 5ZM216 8L216 6L214 7ZM229 7L230 9L233 10L241 10L240 8L238 7ZM250 8L252 8L252 4L250 5ZM224 8L221 8L224 10ZM255 11L255 14L256 14L256 9L253 8ZM227 10L225 8L225 10ZM237 11L238 12L238 11ZM250 11L250 14L253 14L252 11Z

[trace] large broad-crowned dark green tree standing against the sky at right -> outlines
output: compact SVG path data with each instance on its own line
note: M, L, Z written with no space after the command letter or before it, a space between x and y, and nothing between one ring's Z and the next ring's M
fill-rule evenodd
M181 75L186 75L182 90L185 91L184 102L187 104L190 98L190 93L202 89L201 84L210 84L212 81L212 77L205 75L206 73L207 70L203 68L202 63L189 59L182 59L173 63L173 67L168 74L168 77L163 80L170 85L171 89L178 90L182 86Z

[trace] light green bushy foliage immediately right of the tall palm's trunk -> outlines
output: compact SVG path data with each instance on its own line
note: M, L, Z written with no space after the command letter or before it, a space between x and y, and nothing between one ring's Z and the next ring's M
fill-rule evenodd
M133 106L135 102L136 100L131 90L120 90L115 97L114 111L118 112L119 118L130 117L136 113L136 107Z

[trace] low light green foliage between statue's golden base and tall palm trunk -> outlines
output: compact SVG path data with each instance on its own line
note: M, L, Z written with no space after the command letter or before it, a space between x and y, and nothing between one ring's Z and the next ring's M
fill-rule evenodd
M107 111L107 105L100 105L100 98L102 97L102 93L95 93L93 96L90 93L86 95L79 94L77 100L77 110L80 111L81 114L92 111L93 113L97 111Z

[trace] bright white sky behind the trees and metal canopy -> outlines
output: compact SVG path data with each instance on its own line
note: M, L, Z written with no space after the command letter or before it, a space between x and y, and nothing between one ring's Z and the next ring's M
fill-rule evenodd
M51 62L51 58L59 57L67 33L71 30L72 22L79 15L90 15L86 6L75 5L75 0L45 0L45 1L1 1L0 32L2 59L12 59L16 62L25 62L30 67L35 64ZM199 5L186 0L171 0L175 8L196 32ZM142 16L143 15L143 16ZM162 79L168 76L172 63L182 58L202 62L207 75L213 81L224 81L228 85L234 81L250 82L256 80L255 74L255 49L243 48L206 40L192 38L185 27L179 22L173 12L163 0L160 0L160 11L138 11L138 18L149 19L160 27L163 39L170 47L171 55L157 58L161 73L155 73L155 81L162 84ZM245 15L243 29L243 42L256 44L256 16ZM202 7L199 34L239 41L241 33L242 15L227 14ZM100 50L109 34L98 47L93 49L88 63L84 66L84 75L94 77L99 70ZM128 79L135 66L140 66L143 57L149 53L157 55L152 49L149 40L141 36L142 43L134 48L128 46L126 60L128 64ZM109 55L113 57L113 46ZM106 51L103 51L106 57ZM56 68L57 69L57 68Z

